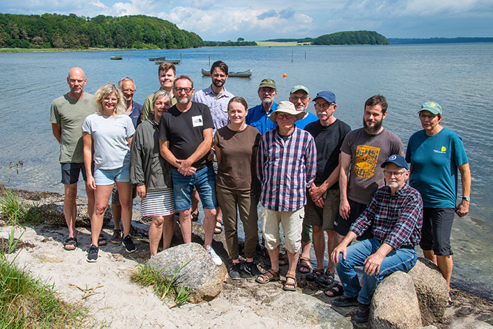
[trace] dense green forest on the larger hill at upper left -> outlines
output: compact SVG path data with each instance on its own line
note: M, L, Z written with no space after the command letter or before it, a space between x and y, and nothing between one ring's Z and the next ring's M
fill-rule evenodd
M199 35L145 15L78 17L74 14L0 14L2 48L127 48L201 47Z

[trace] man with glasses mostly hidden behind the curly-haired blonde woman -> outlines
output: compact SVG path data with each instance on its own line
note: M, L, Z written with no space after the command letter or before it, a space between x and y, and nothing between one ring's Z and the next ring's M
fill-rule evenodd
M118 81L118 87L122 90L123 96L125 97L125 103L127 104L127 115L132 120L134 128L140 125L140 115L142 113L142 105L134 101L134 94L136 92L134 79L129 77L124 77ZM132 199L137 196L137 191L135 187L132 187ZM120 196L118 195L118 188L113 187L113 192L111 193L111 215L113 216L113 222L115 226L113 228L113 235L111 236L110 242L115 244L122 243L122 229L120 227L120 220L122 218L122 206L120 205ZM136 236L137 232L134 226L130 228L130 235ZM101 238L100 241L104 239Z

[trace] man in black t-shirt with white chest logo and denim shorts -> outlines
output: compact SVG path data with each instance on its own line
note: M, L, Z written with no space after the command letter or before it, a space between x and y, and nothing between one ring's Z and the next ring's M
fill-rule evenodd
M223 261L211 247L218 207L216 175L207 159L214 127L211 111L205 104L192 102L195 89L190 77L177 77L173 91L177 104L161 115L159 149L161 156L172 165L174 203L175 210L179 211L181 235L185 243L191 243L191 198L195 187L204 208L204 248L220 266Z

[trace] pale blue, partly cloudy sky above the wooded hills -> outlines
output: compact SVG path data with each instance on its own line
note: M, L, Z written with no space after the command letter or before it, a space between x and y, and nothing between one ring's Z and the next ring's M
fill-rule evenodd
M0 13L147 15L217 41L358 30L387 38L493 37L493 0L0 0Z

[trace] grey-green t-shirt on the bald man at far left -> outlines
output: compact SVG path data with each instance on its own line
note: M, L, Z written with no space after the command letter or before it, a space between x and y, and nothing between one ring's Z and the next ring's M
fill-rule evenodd
M59 123L62 129L60 137L60 163L83 163L82 123L95 113L93 96L84 93L80 99L72 99L67 94L51 103L49 122Z

